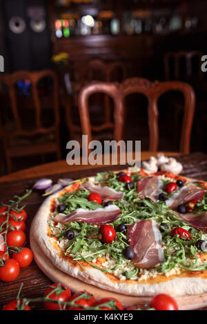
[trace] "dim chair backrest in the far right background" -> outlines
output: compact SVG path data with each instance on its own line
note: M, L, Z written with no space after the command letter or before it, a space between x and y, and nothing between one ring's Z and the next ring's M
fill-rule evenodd
M203 53L199 50L193 51L179 51L168 52L164 55L164 70L166 80L181 80L181 74L185 76L186 81L193 81L193 78L202 79L203 73L201 72L201 57ZM194 62L196 61L196 73ZM181 66L184 64L184 66ZM183 68L183 69L182 69ZM181 70L185 70L182 73ZM196 74L196 75L195 75Z

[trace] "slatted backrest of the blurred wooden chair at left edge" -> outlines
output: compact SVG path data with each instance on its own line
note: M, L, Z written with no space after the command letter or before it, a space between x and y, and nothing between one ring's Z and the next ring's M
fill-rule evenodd
M52 110L54 112L54 122L50 127L46 128L42 125L41 121L41 101L38 83L41 79L50 77L53 83L52 91ZM19 115L19 109L17 104L17 82L20 80L29 80L31 85L31 100L32 108L35 110L35 127L32 130L25 130L21 123L21 117ZM29 71L18 71L12 74L0 74L0 83L6 85L8 88L8 94L10 97L10 106L12 110L12 115L14 118L14 123L16 128L12 132L7 132L3 128L1 123L0 116L0 134L3 137L13 137L13 136L33 136L36 134L44 134L57 130L59 127L59 99L58 99L58 86L57 86L57 77L55 72L52 70L42 70L40 72L29 72Z

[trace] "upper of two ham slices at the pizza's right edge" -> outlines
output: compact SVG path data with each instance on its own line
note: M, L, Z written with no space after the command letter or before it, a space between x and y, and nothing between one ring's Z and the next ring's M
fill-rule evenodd
M188 203L192 199L202 201L205 194L206 190L197 187L193 183L189 183L188 185L184 185L178 192L175 192L170 199L166 200L166 205L172 209L176 209L178 205Z

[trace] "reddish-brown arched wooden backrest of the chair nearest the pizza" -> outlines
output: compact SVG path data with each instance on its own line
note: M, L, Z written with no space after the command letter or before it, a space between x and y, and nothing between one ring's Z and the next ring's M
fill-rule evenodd
M158 109L157 101L161 94L175 90L184 94L184 119L181 131L180 152L188 153L190 150L190 132L193 123L195 110L195 92L188 83L180 81L166 81L154 83L148 79L130 78L122 83L95 82L84 86L79 93L79 114L81 128L84 135L88 135L88 141L92 140L90 118L88 114L88 98L91 94L102 92L108 94L114 101L114 139L120 141L124 136L125 106L124 99L128 94L140 93L148 98L148 128L150 134L149 150L157 151L159 130L158 130Z

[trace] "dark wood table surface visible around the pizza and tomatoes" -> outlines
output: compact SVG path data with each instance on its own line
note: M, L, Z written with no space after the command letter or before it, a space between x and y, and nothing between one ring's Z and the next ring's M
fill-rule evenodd
M181 161L184 165L184 170L182 172L185 176L190 176L195 179L200 179L207 181L207 155L202 153L186 154L177 156L177 160ZM101 168L91 168L89 170L77 170L73 172L67 172L63 174L52 174L51 179L55 182L61 177L68 177L72 179L79 179L83 176L92 176L97 172L103 172L106 170L121 170L123 165L108 166ZM49 172L48 172L49 173ZM37 180L37 178L22 179L12 182L2 182L0 183L0 201L3 203L8 202L14 195L23 194L26 189L32 188L32 185ZM43 197L39 192L32 192L28 198L23 201L26 204L26 212L28 213L28 219L26 220L26 235L27 235L27 245L29 246L29 232L30 224L34 215L36 214L39 206L43 202ZM8 301L12 301L17 296L19 287L23 283L23 288L21 290L22 297L34 298L37 296L42 296L46 287L51 284L50 279L46 277L36 263L32 261L29 267L20 270L18 278L11 283L0 282L0 309ZM126 297L127 298L127 297ZM35 305L35 310L41 309L41 304ZM207 307L205 308L207 310Z

